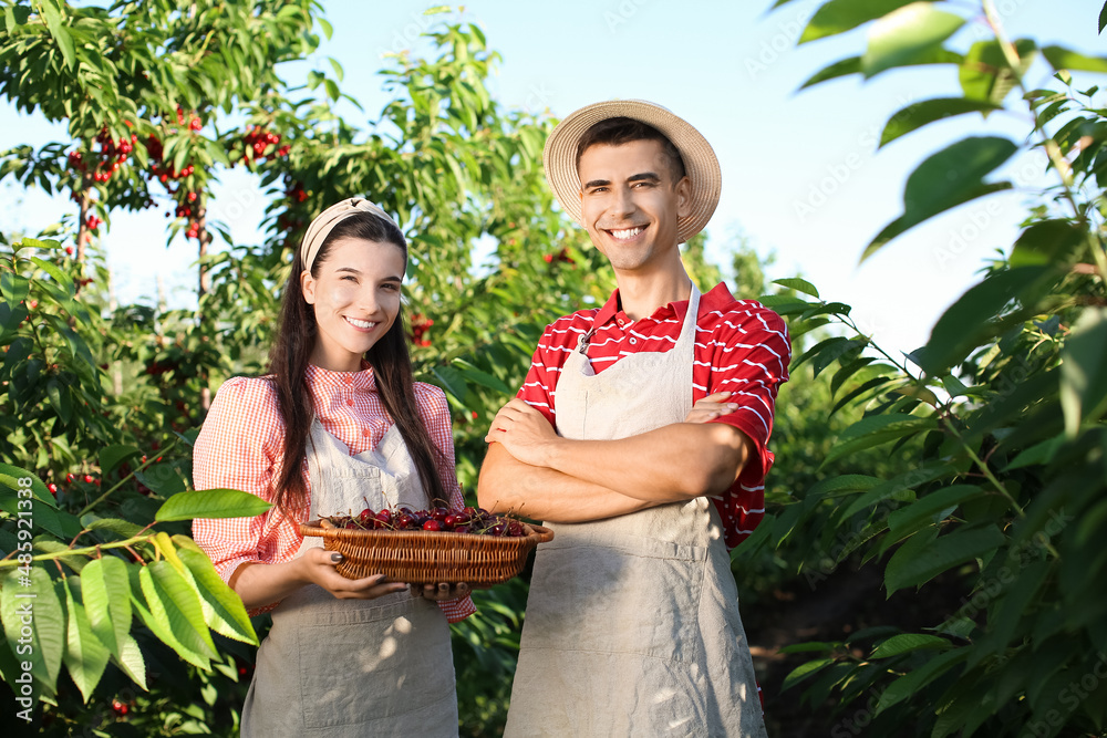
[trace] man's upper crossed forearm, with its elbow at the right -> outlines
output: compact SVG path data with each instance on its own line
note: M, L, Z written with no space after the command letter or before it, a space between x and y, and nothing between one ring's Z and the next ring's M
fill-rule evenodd
M752 441L722 423L676 423L618 440L557 438L546 466L650 502L722 495L734 484Z

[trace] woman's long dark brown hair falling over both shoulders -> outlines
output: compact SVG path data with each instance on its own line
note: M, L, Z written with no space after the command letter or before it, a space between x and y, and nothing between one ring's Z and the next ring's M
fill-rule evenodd
M319 268L327 261L331 245L343 238L392 243L403 251L404 263L407 262L407 241L394 222L371 212L356 212L339 221L328 233L311 264L312 277L319 277ZM314 310L303 298L300 285L302 272L303 259L300 249L297 249L292 273L284 287L280 329L269 352L269 374L277 387L277 403L284 420L284 462L277 480L273 503L286 513L301 509L310 501L302 471L314 415L307 372L319 331ZM376 391L385 412L400 426L423 489L435 505L445 505L446 492L438 476L444 455L431 440L431 434L418 415L402 302L392 328L366 352L365 360L373 367Z

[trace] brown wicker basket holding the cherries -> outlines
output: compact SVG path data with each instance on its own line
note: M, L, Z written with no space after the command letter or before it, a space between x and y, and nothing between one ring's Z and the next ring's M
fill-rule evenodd
M517 576L527 554L554 538L554 531L523 523L526 536L500 537L421 530L350 530L313 520L303 536L323 539L323 548L342 554L334 569L346 579L384 574L390 582L498 584Z

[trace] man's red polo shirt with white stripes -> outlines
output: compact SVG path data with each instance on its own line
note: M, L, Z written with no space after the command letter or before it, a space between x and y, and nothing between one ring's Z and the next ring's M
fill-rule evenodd
M596 329L588 358L597 374L629 354L669 351L681 333L689 302L670 302L649 318L632 321L619 309L619 291L599 309L581 310L551 323L535 351L518 396L556 423L557 381L579 337ZM713 420L749 436L756 453L734 486L715 507L723 519L724 540L734 548L765 517L765 475L773 466L768 439L773 433L776 393L788 381L792 345L788 329L775 312L754 300L735 300L720 283L700 299L696 321L692 402L730 392L738 408Z

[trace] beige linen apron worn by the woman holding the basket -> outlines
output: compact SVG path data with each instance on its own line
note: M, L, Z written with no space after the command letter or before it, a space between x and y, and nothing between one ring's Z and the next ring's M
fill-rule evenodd
M426 507L399 427L351 457L317 418L311 447L311 519ZM320 545L304 538L297 555ZM272 619L242 710L245 738L457 735L449 626L435 603L406 591L339 600L308 584Z

